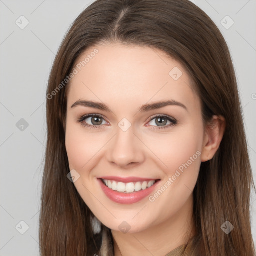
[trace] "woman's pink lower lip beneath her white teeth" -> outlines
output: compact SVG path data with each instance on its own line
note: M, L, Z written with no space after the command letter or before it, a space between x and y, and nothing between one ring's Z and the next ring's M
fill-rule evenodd
M142 200L143 198L148 196L150 193L152 193L153 190L156 188L156 185L158 184L159 180L157 180L152 186L146 188L145 190L140 190L140 191L131 192L131 193L122 193L122 192L114 191L109 187L107 187L102 182L101 179L98 179L98 181L102 190L104 191L104 193L109 199L117 203L131 204L131 203L135 203Z

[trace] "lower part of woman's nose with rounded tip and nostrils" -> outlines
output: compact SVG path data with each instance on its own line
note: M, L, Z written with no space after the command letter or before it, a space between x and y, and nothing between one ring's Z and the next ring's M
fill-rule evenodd
M130 168L144 161L143 148L143 143L131 127L127 131L118 128L115 136L109 141L107 160L120 168Z

